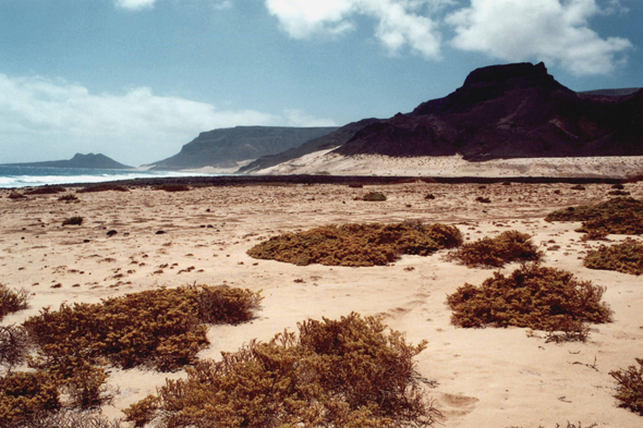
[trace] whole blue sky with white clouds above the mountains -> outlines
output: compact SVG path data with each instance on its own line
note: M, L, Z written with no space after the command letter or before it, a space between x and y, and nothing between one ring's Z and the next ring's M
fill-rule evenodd
M389 118L476 68L643 87L643 0L0 0L0 163Z

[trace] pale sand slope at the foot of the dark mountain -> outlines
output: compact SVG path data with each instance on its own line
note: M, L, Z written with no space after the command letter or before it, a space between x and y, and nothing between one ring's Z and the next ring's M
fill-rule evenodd
M469 162L461 156L392 158L344 157L320 150L258 174L408 175L408 176L594 176L627 178L643 171L643 157L529 158Z

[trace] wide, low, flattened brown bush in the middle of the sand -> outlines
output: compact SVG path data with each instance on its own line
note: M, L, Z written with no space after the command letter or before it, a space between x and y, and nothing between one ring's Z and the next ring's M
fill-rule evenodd
M247 250L251 257L299 266L384 266L402 254L428 256L462 243L458 228L404 223L326 225L271 237Z

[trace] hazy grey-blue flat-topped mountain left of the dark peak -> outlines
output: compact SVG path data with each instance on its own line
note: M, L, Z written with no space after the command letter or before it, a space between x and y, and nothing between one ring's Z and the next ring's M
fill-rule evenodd
M203 132L179 154L154 162L151 167L157 170L234 168L238 162L299 147L336 130L337 126L236 126Z

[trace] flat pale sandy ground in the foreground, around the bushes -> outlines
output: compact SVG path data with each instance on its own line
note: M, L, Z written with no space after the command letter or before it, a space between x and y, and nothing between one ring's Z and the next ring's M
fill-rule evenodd
M437 382L428 390L448 428L554 428L567 421L583 427L643 426L643 418L619 408L610 370L643 357L643 281L640 277L590 270L582 257L598 243L584 243L578 223L547 223L545 215L570 205L607 199L606 184L427 184L408 183L350 188L345 185L251 185L201 187L166 193L146 187L130 193L8 198L0 191L0 282L33 293L31 308L2 323L22 322L43 307L66 302L99 302L107 296L160 286L203 283L263 290L263 308L252 322L213 326L210 346L199 354L219 358L257 338L268 341L306 318L339 318L351 311L383 315L412 343L428 341L417 356L422 376ZM643 182L627 184L636 198ZM353 200L366 192L388 200ZM70 192L73 188L70 187ZM556 193L558 192L558 193ZM427 200L432 193L435 199ZM476 196L490 204L476 203ZM511 201L509 201L511 199ZM62 227L71 216L81 227ZM398 222L422 219L457 225L469 240L507 230L534 235L546 252L545 266L567 269L581 280L607 286L612 323L592 326L587 343L545 343L525 329L462 329L450 322L447 294L493 274L432 257L404 256L386 267L298 267L255 260L245 253L269 236L344 222ZM107 231L118 233L108 237ZM157 234L158 231L165 233ZM611 235L614 242L624 236ZM641 237L638 237L641 240ZM502 272L511 272L510 265ZM183 371L111 369L109 383L120 393L102 413L154 393L166 378Z

